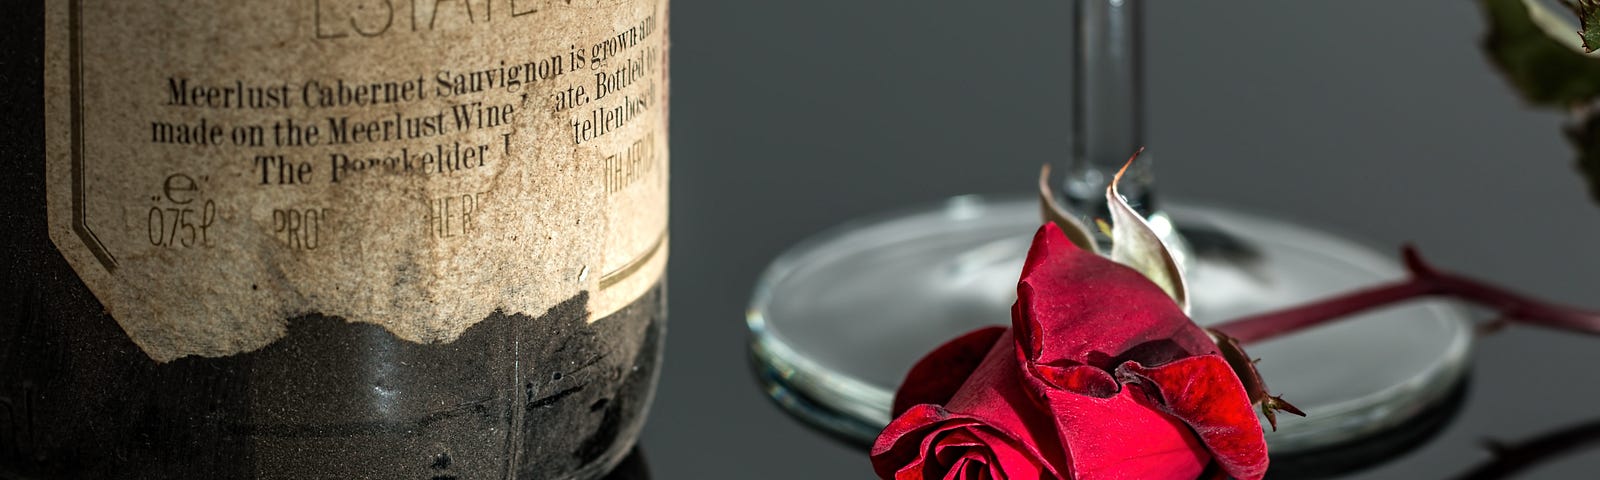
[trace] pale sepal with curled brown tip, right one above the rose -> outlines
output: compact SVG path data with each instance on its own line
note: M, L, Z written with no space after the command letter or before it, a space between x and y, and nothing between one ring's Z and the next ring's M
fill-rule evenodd
M1117 194L1117 184L1122 182L1122 174L1128 171L1134 158L1139 158L1144 149L1134 152L1128 157L1128 163L1117 171L1117 176L1106 187L1106 206L1110 208L1110 259L1118 264L1133 267L1144 274L1144 277L1160 285L1173 301L1178 302L1184 312L1189 312L1189 290L1184 283L1184 272L1173 258L1173 253L1166 250L1166 243L1162 243L1162 237L1150 229L1150 224L1144 221L1139 211L1128 205L1128 200Z

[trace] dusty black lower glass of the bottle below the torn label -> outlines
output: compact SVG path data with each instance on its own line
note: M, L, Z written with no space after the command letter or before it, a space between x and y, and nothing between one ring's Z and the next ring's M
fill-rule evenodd
M157 365L48 286L69 291L8 299L6 478L592 478L638 437L666 325L662 286L592 328L584 299L448 346L302 317L261 352Z

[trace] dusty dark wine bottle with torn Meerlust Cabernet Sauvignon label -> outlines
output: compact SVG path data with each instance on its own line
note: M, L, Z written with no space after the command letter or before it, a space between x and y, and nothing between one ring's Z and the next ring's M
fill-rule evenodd
M666 328L666 0L8 6L0 478L592 478Z

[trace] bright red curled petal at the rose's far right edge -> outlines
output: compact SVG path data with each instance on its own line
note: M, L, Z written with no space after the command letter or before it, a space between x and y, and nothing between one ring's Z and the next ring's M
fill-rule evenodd
M1221 355L1189 357L1160 366L1134 362L1117 378L1142 387L1157 408L1182 419L1229 475L1256 480L1267 472L1267 442L1250 395Z

